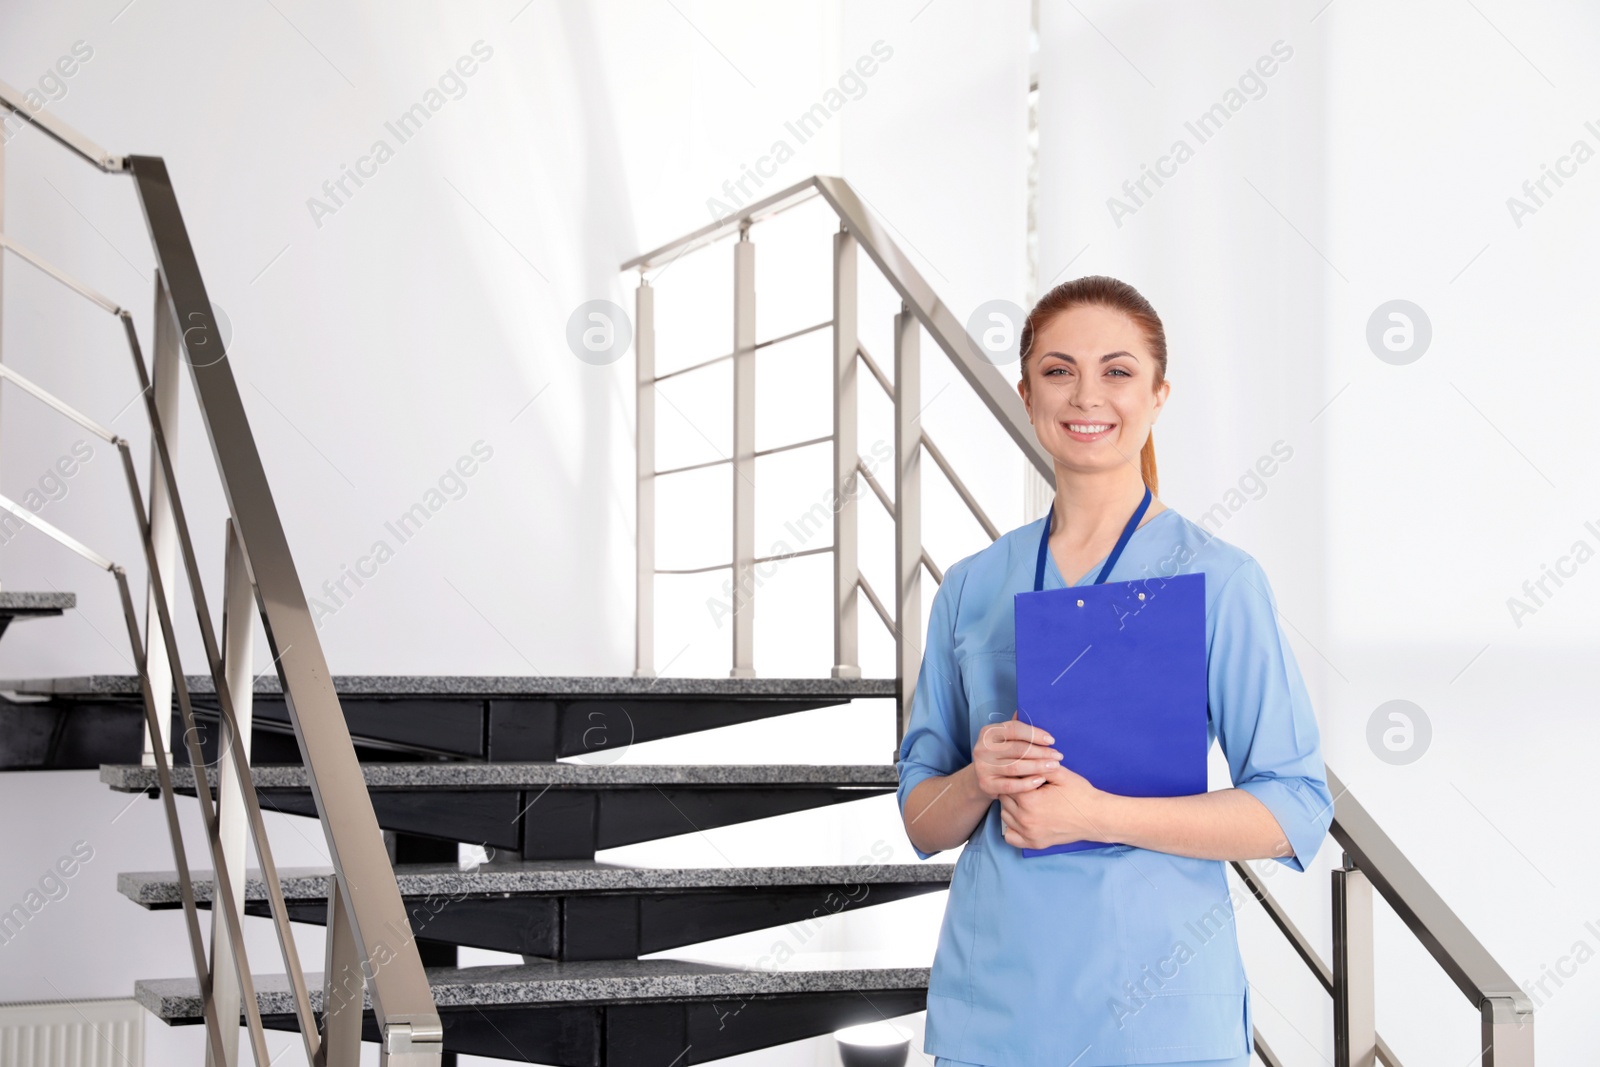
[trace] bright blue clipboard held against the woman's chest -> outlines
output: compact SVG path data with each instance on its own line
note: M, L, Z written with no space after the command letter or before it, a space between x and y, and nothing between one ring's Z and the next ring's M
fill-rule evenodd
M1096 789L1206 792L1205 574L1016 593L1016 701L1018 718L1050 733L1061 765Z

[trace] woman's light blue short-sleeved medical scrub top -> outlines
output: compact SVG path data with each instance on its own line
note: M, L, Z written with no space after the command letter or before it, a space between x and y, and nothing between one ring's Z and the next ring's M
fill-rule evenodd
M1016 712L1013 595L1045 520L950 566L899 749L899 805L971 763ZM1104 560L1077 582L1086 585ZM1333 821L1317 718L1261 565L1173 509L1133 531L1107 581L1205 573L1208 734L1234 785L1277 817L1304 870ZM1045 589L1066 581L1051 553ZM1107 709L1114 713L1115 709ZM1224 862L1115 845L1024 857L1000 803L955 864L928 981L925 1051L986 1067L1178 1064L1253 1051ZM918 859L933 853L915 849Z

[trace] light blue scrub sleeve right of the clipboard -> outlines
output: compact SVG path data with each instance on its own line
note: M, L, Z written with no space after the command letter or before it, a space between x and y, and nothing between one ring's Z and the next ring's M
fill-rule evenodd
M1256 560L1222 582L1213 609L1206 686L1227 769L1288 838L1293 853L1277 861L1306 870L1333 822L1333 795L1310 694Z

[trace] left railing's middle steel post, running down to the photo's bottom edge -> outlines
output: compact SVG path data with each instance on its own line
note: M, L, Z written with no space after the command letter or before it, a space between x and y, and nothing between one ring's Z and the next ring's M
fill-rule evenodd
M234 891L234 907L245 913L245 793L240 789L238 771L229 760L229 750L238 745L240 753L250 760L250 723L253 675L251 675L251 619L256 609L256 595L251 590L250 571L245 566L245 553L238 545L238 531L234 520L226 522L222 552L222 673L227 678L227 691L234 697L234 718L238 721L238 736L234 736L226 717L218 717L218 838L221 854L227 864L229 888ZM214 894L221 893L219 881L211 883ZM222 921L224 912L211 907L211 997L216 1000L216 1017L222 1021L222 1054L226 1067L238 1064L238 976L234 973L234 942ZM208 1067L224 1067L213 1062L211 1049L206 1049Z

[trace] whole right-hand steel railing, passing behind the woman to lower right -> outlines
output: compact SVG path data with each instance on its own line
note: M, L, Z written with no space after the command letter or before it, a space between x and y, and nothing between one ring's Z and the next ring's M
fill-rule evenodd
M750 677L752 627L749 605L755 582L752 573L765 558L755 557L754 459L774 450L755 451L755 354L795 334L757 341L755 331L755 245L750 230L765 219L821 197L838 216L834 235L834 317L806 328L834 331L834 432L827 437L797 442L782 448L800 448L832 442L834 446L834 544L811 552L834 555L834 667L835 678L861 675L856 657L856 590L874 608L894 635L896 681L899 683L899 736L904 736L912 693L922 664L918 637L922 629L920 577L926 569L934 582L944 574L922 545L920 459L926 453L957 496L971 510L990 539L1000 531L984 514L976 498L957 475L944 453L920 427L920 331L926 330L944 350L971 389L995 416L1000 427L1016 442L1022 454L1046 478L1054 482L1054 464L1029 424L1022 402L1011 382L990 363L978 342L966 333L949 307L934 294L882 224L866 210L861 198L842 178L808 178L765 200L750 203L725 219L622 264L622 270L638 270L635 299L635 349L638 357L638 619L635 630L635 673L653 670L654 577L666 571L654 565L656 544L656 480L731 462L733 466L733 537L731 563L696 569L733 569L734 598L733 677ZM733 352L712 360L656 374L654 304L656 293L650 272L670 266L680 256L738 234L734 253L734 330ZM856 253L858 248L878 267L901 298L894 317L893 379L867 354L858 336L856 318ZM800 331L800 333L806 333ZM656 469L656 384L723 360L733 360L733 426L734 454L709 464L693 464L669 470ZM893 496L870 474L856 450L856 366L862 365L894 403L894 493ZM856 566L858 475L880 501L894 523L896 589L893 609L872 589ZM795 553L802 555L802 553ZM787 558L787 557L786 557ZM742 624L741 624L742 622ZM1326 963L1299 931L1283 905L1272 896L1261 877L1243 862L1234 870L1251 896L1294 947L1301 960L1333 997L1334 1064L1336 1067L1371 1067L1382 1062L1400 1067L1400 1061L1378 1035L1373 985L1373 889L1400 915L1413 934L1427 947L1456 987L1482 1016L1485 1067L1533 1067L1533 1005L1510 981L1470 929L1450 910L1443 897L1422 878L1421 872L1389 840L1378 822L1349 793L1330 769L1328 784L1334 795L1331 833L1344 849L1344 862L1333 877L1333 963ZM1278 1067L1278 1056L1254 1035L1256 1053L1269 1067Z

